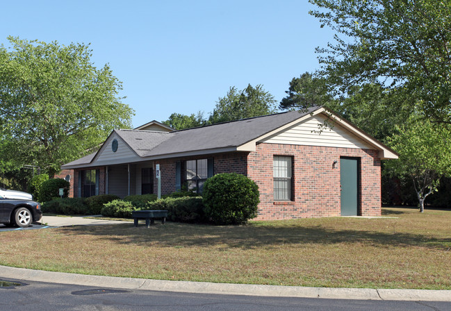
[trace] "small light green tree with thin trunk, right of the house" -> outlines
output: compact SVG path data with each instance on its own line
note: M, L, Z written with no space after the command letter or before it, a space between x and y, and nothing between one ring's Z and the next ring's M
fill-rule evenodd
M397 126L397 131L387 143L400 156L387 161L386 169L393 176L411 178L423 212L425 199L436 192L440 178L451 174L451 131L429 121L411 121Z

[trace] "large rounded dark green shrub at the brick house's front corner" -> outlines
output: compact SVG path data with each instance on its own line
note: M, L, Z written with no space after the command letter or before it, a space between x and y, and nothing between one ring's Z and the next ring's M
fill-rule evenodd
M259 186L236 173L223 173L204 183L204 212L215 224L245 224L256 217Z

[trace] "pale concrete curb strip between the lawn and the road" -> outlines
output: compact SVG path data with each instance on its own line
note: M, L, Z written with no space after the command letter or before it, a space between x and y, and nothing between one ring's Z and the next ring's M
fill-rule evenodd
M84 274L66 274L60 272L30 270L3 266L0 266L0 278L47 283L85 285L91 287L140 289L162 292L187 292L197 294L231 294L245 296L393 301L451 301L451 290L326 288L278 285L222 284L172 280L148 280L142 278L116 278L112 276L88 276Z

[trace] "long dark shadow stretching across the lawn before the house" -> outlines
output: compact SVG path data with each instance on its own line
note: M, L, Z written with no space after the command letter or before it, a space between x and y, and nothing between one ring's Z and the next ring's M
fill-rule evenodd
M167 247L216 246L254 249L281 245L362 243L371 246L422 246L447 250L451 239L429 238L414 233L384 233L381 231L331 229L325 226L207 226L167 223L151 228L129 224L61 228L67 235L94 235L117 244Z

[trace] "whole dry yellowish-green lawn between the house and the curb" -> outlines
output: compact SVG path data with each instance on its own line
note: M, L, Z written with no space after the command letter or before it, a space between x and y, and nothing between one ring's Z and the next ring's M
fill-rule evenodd
M451 289L451 211L393 218L75 226L0 233L0 264L221 283Z

